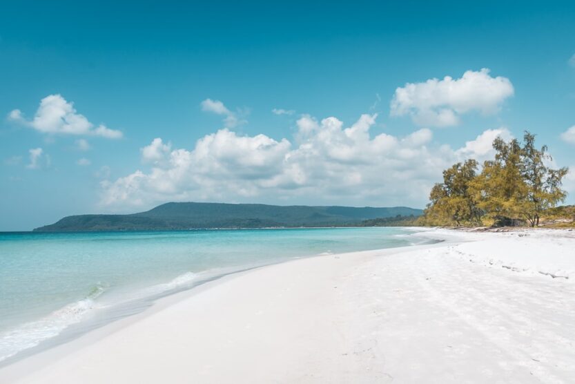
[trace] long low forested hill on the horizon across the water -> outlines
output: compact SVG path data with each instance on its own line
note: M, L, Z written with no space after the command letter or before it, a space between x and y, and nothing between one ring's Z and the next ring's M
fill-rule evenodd
M168 202L130 215L75 215L39 227L39 232L162 231L213 228L345 227L365 220L422 215L407 207L307 207L266 204Z

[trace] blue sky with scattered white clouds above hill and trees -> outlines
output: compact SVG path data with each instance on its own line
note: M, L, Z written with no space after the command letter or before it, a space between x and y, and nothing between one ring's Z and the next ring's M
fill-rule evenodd
M575 3L10 1L0 231L169 201L423 208L528 130L575 203Z

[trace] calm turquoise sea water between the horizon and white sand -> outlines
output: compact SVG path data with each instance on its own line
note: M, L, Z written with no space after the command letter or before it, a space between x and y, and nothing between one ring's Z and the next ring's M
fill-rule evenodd
M227 273L425 242L411 233L397 228L0 233L0 361L95 314L99 322L121 317L142 307L135 303Z

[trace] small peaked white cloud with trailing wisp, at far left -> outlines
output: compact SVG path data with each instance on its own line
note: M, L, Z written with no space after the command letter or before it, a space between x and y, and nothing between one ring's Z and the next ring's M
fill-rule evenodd
M30 126L42 133L63 135L93 135L108 139L119 139L121 131L107 128L104 125L95 127L84 115L76 112L72 102L67 102L61 95L49 95L41 99L34 118L23 117L19 109L8 114L8 119Z

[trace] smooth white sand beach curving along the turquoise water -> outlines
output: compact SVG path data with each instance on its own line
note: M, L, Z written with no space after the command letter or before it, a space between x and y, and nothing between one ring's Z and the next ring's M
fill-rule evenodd
M262 267L0 369L0 383L574 383L575 232Z

